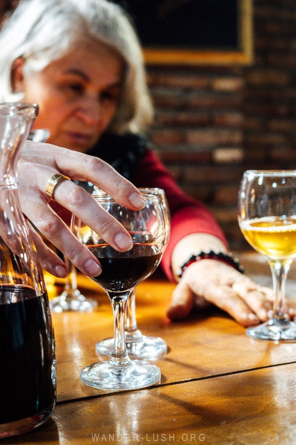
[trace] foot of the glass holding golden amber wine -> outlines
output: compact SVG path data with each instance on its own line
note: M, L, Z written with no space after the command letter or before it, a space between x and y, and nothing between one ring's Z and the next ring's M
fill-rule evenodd
M271 319L258 326L246 329L249 337L259 340L296 340L296 323L294 321L280 322L277 319Z

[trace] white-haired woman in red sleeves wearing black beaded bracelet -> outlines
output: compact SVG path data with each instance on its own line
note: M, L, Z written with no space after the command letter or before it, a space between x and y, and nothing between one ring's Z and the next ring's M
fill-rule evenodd
M267 320L271 290L241 273L210 211L178 187L145 135L153 110L141 46L122 8L106 0L23 0L0 47L2 100L37 102L34 126L49 130L49 143L101 158L137 187L165 190L171 236L162 267L171 280L181 277L168 316L212 303L245 326Z

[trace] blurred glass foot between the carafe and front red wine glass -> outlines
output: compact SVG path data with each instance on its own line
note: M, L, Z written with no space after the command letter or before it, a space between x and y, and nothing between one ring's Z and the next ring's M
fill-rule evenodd
M52 312L91 312L98 303L90 298L85 298L78 289L69 293L64 291L61 295L49 301L49 307Z

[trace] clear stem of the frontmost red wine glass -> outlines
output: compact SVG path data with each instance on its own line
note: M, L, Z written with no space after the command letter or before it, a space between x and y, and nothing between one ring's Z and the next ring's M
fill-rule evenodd
M113 311L113 332L114 342L111 354L111 362L113 365L122 366L123 363L128 364L130 362L129 356L126 351L125 338L124 338L124 325L125 325L125 310L126 302L131 294L128 292L111 292L108 291L108 296L111 301Z

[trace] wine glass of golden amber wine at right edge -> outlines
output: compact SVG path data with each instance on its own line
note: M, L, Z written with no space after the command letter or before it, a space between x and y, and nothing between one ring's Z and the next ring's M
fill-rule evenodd
M275 293L272 317L246 332L263 340L295 340L285 283L296 256L296 171L246 171L238 196L238 222L246 240L267 257Z

